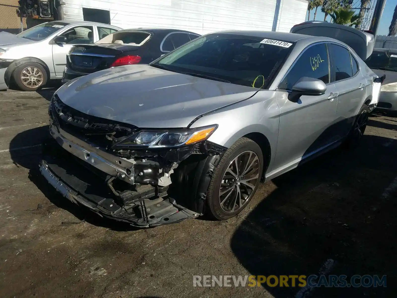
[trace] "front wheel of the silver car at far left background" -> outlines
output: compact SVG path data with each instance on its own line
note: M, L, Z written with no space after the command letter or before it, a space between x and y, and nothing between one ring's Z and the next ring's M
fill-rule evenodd
M27 62L15 68L13 79L23 91L36 91L47 82L47 72L44 67L36 62Z

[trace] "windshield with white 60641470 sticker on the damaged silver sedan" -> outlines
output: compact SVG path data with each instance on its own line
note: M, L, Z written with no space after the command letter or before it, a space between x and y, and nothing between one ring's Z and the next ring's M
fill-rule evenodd
M150 64L172 72L267 88L292 43L263 37L212 33Z

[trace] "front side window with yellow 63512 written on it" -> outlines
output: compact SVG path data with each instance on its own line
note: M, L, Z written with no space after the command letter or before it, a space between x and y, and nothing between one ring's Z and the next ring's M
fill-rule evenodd
M279 89L292 90L293 85L301 77L320 79L326 84L330 82L330 68L325 44L307 48L283 79L279 85Z

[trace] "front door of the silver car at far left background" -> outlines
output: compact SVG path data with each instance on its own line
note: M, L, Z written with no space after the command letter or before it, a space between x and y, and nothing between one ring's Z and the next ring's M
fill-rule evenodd
M94 43L93 26L76 26L67 29L66 32L58 35L67 38L66 44L53 43L52 60L54 62L55 75L62 77L66 66L66 54L73 45L87 45Z

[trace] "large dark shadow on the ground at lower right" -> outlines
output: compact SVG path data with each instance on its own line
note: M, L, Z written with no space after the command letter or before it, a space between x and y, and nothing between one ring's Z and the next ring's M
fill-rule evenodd
M395 276L397 146L364 135L272 180L277 187L238 226L231 249L252 275ZM328 272L329 269L329 272ZM347 279L349 281L349 279ZM274 297L384 297L385 287L264 286ZM298 281L297 283L298 284Z

